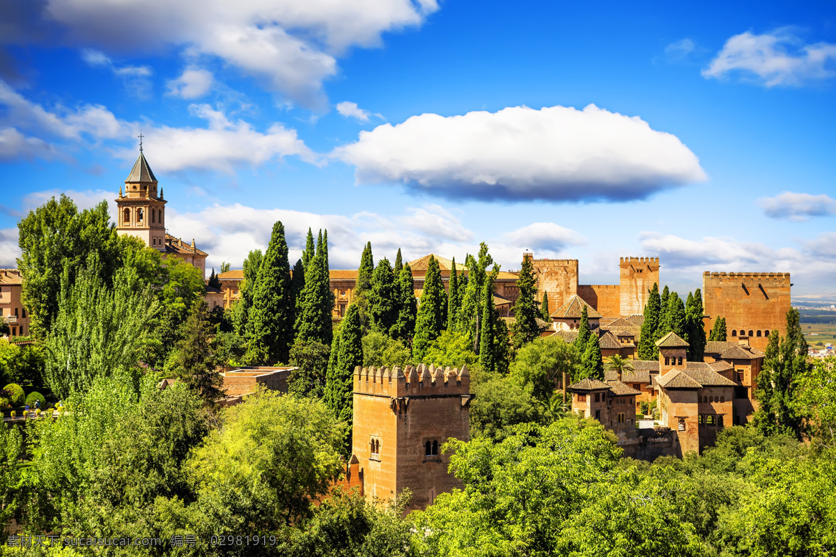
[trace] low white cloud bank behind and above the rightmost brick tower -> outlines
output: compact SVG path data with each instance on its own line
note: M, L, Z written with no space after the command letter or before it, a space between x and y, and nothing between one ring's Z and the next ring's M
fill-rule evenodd
M766 246L760 242L706 236L688 240L676 235L645 232L645 253L659 256L667 277L693 280L703 271L789 272L798 291L833 289L836 274L836 233L828 232L798 247Z

